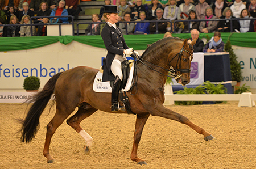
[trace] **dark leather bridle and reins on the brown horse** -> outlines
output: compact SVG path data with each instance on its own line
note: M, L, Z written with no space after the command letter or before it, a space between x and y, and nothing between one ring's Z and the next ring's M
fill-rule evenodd
M170 77L170 78L178 79L178 78L182 77L182 73L189 73L189 72L190 72L190 69L180 69L180 67L181 67L181 56L182 56L182 53L183 53L183 52L187 52L188 54L190 54L190 56L192 56L192 54L193 54L193 53L189 52L188 50L185 50L185 49L184 49L184 46L183 46L183 47L180 49L180 52L177 53L177 54L171 59L171 61L172 61L172 60L174 60L175 57L178 56L175 69L172 69L172 68L171 68L171 61L169 62L169 67L170 67L170 69L165 69L164 67L161 67L161 66L152 64L151 62L148 62L148 61L144 60L143 58L137 56L135 53L134 53L134 54L131 54L131 56L134 57L134 58L136 58L137 61L141 62L143 65L147 66L147 67L150 68L151 70L154 70L154 71L156 71L156 72L158 72L158 73L160 73L160 74L162 74L162 75L164 75L164 76L167 76L167 77ZM155 66L155 67L159 67L160 69L163 69L163 70L168 71L168 74L170 74L170 75L166 75L166 74L161 73L160 71L158 71L158 70L156 70L156 69L154 69L154 68L148 66L145 62L147 62L148 64L153 65L153 66ZM180 73L179 73L179 72L180 72Z

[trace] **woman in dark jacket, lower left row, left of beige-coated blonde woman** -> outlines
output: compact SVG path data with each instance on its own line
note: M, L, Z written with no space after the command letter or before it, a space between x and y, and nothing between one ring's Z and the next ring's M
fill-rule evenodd
M10 18L10 23L13 24L13 26L8 26L7 27L7 36L8 37L16 37L20 36L19 31L20 31L20 24L17 16L12 15Z

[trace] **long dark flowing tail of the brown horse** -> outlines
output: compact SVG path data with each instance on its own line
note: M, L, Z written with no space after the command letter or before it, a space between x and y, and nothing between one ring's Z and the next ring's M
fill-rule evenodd
M22 122L22 128L20 129L22 142L30 142L35 137L39 129L39 118L42 115L44 108L46 108L49 99L55 91L55 84L57 79L63 72L54 75L44 86L43 90L34 95L31 99L26 102L32 103L29 109L26 119L20 120Z

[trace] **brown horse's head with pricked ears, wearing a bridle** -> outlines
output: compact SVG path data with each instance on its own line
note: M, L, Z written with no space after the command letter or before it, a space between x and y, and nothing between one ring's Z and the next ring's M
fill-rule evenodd
M177 53L170 62L172 69L175 70L174 75L176 82L182 84L183 86L190 82L190 66L193 59L193 45L195 45L195 43L196 39L194 39L191 43L188 43L188 40L185 39L180 52Z

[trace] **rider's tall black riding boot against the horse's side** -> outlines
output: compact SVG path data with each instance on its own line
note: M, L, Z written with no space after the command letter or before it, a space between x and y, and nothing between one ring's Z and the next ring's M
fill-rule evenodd
M121 85L121 80L119 79L118 75L115 76L114 84L112 87L112 95L111 95L111 111L112 112L125 112L125 107L118 105L118 94L119 94L119 88Z

